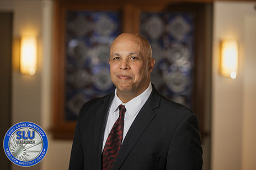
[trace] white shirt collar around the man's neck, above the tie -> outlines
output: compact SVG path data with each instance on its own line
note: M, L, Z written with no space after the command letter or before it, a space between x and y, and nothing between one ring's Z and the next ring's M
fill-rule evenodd
M145 104L148 97L150 97L151 91L152 91L152 85L150 83L150 85L148 85L147 89L145 91L143 91L142 94L138 95L135 98L132 98L132 100L130 100L127 103L122 103L122 101L120 100L118 95L116 95L116 89L115 89L115 97L114 97L113 103L112 103L113 112L111 114L113 114L114 111L116 109L118 109L119 105L124 105L126 108L125 117L127 117L127 118L134 117L135 114L138 111L140 111L142 106Z

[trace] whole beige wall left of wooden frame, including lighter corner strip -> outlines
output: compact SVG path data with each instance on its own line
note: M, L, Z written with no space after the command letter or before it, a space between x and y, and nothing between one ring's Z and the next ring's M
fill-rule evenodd
M68 169L72 141L53 140L51 126L52 17L51 0L1 0L1 12L13 12L12 124L28 121L42 127L49 140L47 154L39 164L26 169ZM38 38L38 71L22 75L18 69L21 36ZM24 169L12 163L12 169Z

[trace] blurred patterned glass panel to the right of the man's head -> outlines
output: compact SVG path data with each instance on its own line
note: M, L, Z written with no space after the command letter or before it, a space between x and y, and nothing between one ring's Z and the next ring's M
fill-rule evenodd
M194 16L143 12L140 18L140 34L150 41L156 60L152 83L161 94L191 108Z

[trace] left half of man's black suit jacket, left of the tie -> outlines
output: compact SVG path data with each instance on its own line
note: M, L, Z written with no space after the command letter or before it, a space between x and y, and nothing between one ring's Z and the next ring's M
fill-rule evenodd
M94 98L80 109L69 169L101 169L102 134L113 96Z

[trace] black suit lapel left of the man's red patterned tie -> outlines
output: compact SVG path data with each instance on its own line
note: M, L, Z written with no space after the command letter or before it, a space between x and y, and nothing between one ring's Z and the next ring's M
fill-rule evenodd
M103 102L96 111L95 116L95 129L94 129L94 142L95 142L95 153L98 154L98 169L102 168L102 142L103 134L105 130L106 116L108 114L109 106L113 100L113 94L106 96Z

